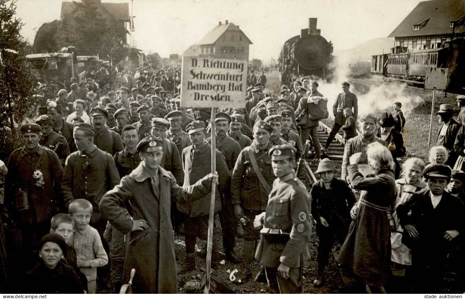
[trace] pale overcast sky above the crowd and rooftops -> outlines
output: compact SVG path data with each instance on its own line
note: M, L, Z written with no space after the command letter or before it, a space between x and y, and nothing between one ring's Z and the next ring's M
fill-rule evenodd
M79 0L78 0L79 1ZM129 2L130 0L102 0ZM60 18L61 0L19 0L22 35L33 43L40 25ZM133 0L133 39L144 52L182 54L218 21L239 25L252 41L250 58L269 63L284 42L318 18L317 28L334 50L387 37L419 0Z

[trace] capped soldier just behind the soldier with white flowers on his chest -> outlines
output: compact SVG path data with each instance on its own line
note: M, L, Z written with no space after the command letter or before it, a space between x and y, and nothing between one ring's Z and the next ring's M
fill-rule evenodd
M66 138L53 131L53 120L48 114L37 117L35 123L42 128L39 144L53 150L60 159L61 166L65 166L66 157L69 156L69 146Z

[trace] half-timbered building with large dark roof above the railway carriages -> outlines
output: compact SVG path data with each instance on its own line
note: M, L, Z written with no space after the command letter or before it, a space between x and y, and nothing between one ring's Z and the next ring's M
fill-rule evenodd
M465 36L465 0L422 1L388 36L394 52L441 48Z

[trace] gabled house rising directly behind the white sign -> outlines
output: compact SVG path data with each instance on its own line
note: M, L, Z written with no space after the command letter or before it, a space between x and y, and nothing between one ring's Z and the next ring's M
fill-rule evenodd
M249 59L249 45L252 41L239 26L221 21L213 27L196 45L191 45L184 56Z

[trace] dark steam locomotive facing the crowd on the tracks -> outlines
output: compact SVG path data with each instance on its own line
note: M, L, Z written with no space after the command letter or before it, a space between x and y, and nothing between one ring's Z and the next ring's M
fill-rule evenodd
M317 18L308 19L308 28L302 29L284 43L279 54L279 76L281 84L291 86L292 82L304 76L331 80L332 43L320 35Z

